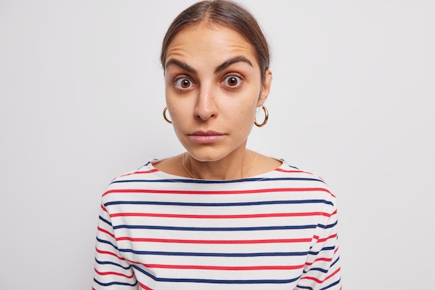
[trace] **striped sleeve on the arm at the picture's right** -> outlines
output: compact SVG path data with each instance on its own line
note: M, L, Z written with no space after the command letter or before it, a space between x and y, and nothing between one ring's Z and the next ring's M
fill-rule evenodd
M340 290L340 255L338 253L337 209L333 202L325 225L319 224L315 243L309 251L304 272L295 289Z

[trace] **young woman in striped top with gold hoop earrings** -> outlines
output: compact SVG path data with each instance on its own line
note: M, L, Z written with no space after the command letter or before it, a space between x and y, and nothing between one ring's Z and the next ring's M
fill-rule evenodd
M246 148L272 81L254 17L196 3L167 30L161 62L163 114L186 152L110 183L93 289L340 289L334 195Z

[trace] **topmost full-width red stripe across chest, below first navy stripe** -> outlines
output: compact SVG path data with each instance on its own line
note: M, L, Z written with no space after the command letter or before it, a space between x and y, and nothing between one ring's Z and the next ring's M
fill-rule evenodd
M308 187L308 188L267 188L267 189L252 189L252 190L233 190L233 191L191 191L191 190L158 190L158 189L111 189L104 192L107 194L261 194L265 192L288 192L288 191L325 191L331 194L323 187ZM334 196L331 194L331 196Z

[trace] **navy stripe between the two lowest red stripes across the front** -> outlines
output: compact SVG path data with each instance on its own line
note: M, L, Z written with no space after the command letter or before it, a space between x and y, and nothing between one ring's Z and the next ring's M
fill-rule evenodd
M190 252L159 252L149 250L132 250L120 248L122 253L133 253L136 255L158 255L158 256L188 256L188 257L291 257L304 256L307 252L272 252L272 253L190 253Z

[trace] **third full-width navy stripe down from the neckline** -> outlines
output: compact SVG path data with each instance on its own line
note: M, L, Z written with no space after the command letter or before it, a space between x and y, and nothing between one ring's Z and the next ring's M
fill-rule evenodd
M163 225L115 225L114 230L120 228L140 229L140 230L189 230L199 232L238 232L250 230L305 230L316 228L316 225L282 225L265 227L245 227L245 228L195 228L195 227L170 227Z

